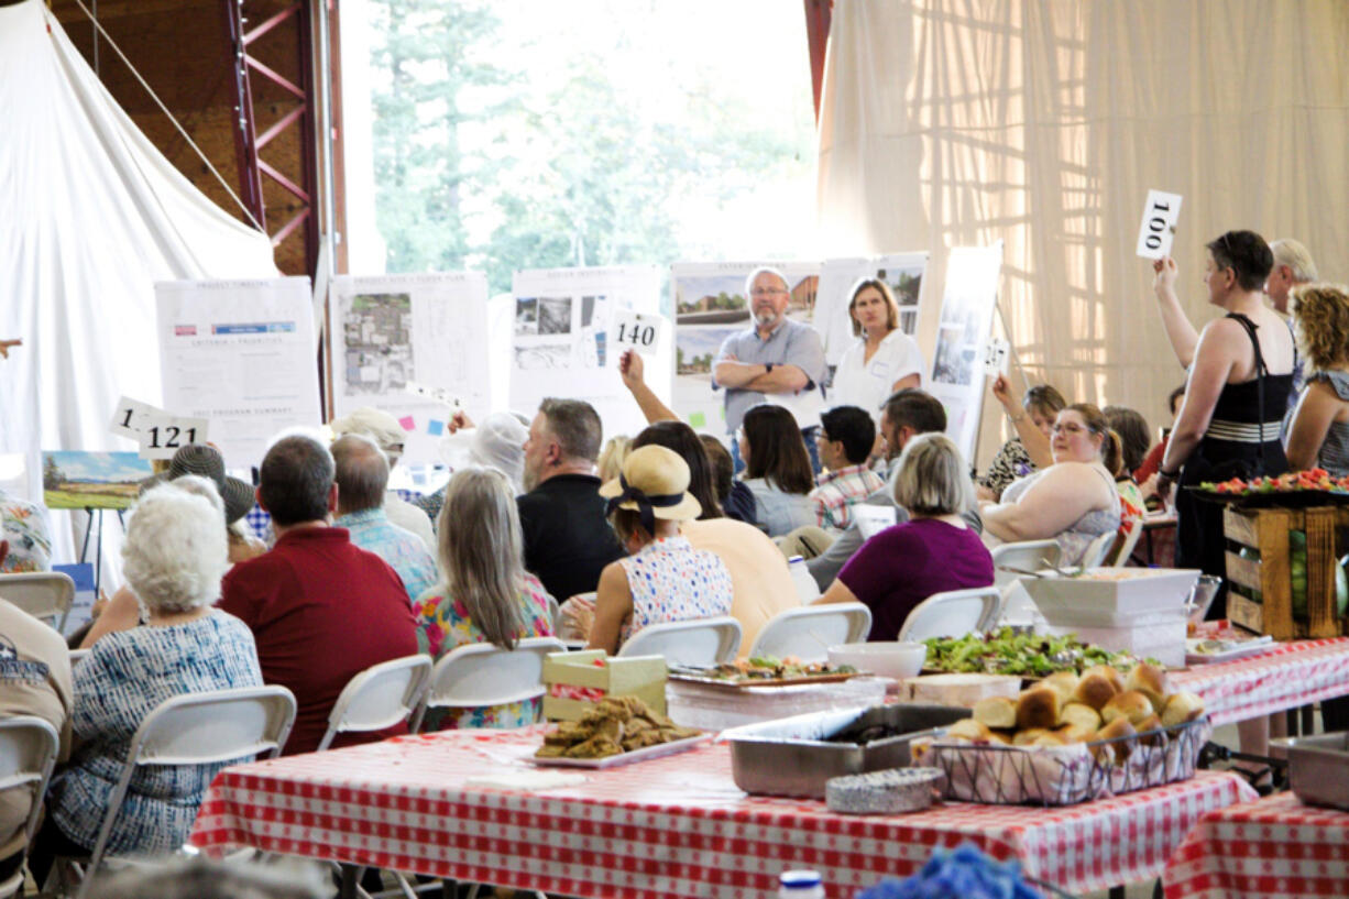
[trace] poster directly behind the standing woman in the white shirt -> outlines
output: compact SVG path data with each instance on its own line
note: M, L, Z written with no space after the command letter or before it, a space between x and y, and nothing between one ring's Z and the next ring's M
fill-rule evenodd
M853 320L849 317L847 304L853 285L862 278L877 278L889 285L900 306L900 331L911 337L917 335L920 312L927 301L927 293L923 290L927 259L925 252L896 252L885 256L826 259L820 265L815 327L824 339L824 358L830 366L836 366L857 340L853 336ZM931 348L924 348L923 355L931 358Z

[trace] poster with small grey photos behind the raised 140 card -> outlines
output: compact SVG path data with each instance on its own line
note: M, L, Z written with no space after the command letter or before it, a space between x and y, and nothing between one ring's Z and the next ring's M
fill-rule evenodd
M619 312L660 315L660 269L533 269L517 271L513 286L511 409L533 416L545 397L577 397L599 412L606 439L641 431L646 420L618 374L622 347L610 325ZM668 346L645 358L645 370L668 398Z

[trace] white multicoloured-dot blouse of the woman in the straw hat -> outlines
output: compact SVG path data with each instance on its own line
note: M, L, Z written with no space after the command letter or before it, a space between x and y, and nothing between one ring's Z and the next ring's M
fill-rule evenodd
M685 537L660 537L618 564L633 593L633 617L621 629L622 641L653 624L731 614L726 563L715 552L695 549Z

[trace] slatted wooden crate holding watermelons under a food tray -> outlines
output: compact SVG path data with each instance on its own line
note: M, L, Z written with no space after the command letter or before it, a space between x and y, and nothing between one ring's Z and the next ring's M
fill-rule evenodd
M1228 618L1232 624L1275 640L1344 633L1345 622L1336 617L1336 566L1340 564L1340 529L1349 526L1349 509L1228 508L1222 525L1228 540ZM1307 535L1306 621L1292 617L1290 530ZM1257 549L1260 559L1242 559L1232 544Z

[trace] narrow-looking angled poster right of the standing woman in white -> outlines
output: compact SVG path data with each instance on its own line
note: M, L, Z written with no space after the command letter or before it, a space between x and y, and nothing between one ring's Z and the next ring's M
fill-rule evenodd
M946 406L946 433L966 459L974 458L978 436L985 393L983 355L993 328L1001 271L1001 240L990 247L955 247L946 262L932 377L924 386Z

